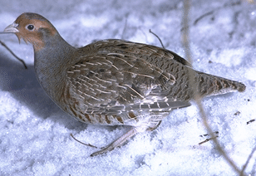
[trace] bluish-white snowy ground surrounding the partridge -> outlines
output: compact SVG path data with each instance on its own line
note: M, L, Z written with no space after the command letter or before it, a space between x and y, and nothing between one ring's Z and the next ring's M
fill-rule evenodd
M185 56L181 44L182 1L34 1L0 2L0 31L22 12L37 12L73 46L122 38L160 46ZM247 1L198 0L191 3L190 45L194 69L242 81L244 93L205 98L209 124L234 163L243 167L256 145L256 5ZM235 175L206 134L193 103L174 110L152 133L138 134L111 153L94 158L126 127L84 125L60 110L37 83L31 45L14 35L0 40L28 65L0 46L0 175ZM256 154L246 174L256 175Z

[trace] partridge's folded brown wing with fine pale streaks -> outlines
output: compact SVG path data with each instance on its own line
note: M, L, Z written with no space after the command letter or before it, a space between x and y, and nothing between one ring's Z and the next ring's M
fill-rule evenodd
M166 61L188 63L156 46L107 40L82 48L80 61L67 71L68 94L76 110L119 115L124 111L169 111L190 105L168 97L175 76L165 71ZM91 51L91 52L90 52Z

